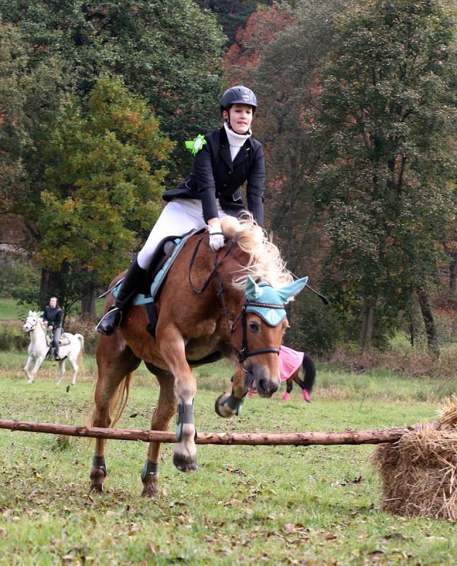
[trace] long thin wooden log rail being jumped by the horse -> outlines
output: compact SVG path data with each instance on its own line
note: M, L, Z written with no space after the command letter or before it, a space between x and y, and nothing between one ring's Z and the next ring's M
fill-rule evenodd
M438 422L431 425L440 428ZM310 446L313 444L381 444L395 442L403 434L421 429L421 424L409 427L398 427L384 430L347 430L344 432L209 432L197 434L196 444L228 444L242 446ZM74 427L69 424L52 424L47 422L21 422L18 420L0 420L0 429L12 432L45 432L63 434L68 437L90 437L115 440L135 440L141 442L176 442L174 432L158 430L107 429L100 427Z

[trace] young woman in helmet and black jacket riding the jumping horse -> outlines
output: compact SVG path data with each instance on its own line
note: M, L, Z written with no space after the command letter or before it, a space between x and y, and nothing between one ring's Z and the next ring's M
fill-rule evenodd
M209 246L214 251L224 247L220 219L245 211L241 197L241 185L245 181L248 182L248 209L263 226L265 160L262 144L252 137L250 130L256 108L255 94L245 86L233 86L224 93L221 98L223 127L200 140L199 149L194 150L192 173L164 193L163 199L168 204L130 264L115 305L98 323L96 329L100 334L110 335L119 326L122 311L133 300L134 291L163 238L207 226Z

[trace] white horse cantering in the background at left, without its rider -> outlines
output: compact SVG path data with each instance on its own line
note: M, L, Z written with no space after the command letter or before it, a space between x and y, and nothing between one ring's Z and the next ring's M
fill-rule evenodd
M26 333L30 333L30 346L28 347L28 360L24 366L25 374L28 377L28 383L33 383L35 379L35 374L37 373L38 369L45 359L50 346L46 340L46 327L45 323L43 323L42 319L40 318L39 313L35 313L34 311L28 311L28 317L25 320L25 324L22 327L23 331ZM71 376L71 385L76 383L76 374L78 373L78 364L76 364L76 360L78 359L79 355L83 354L84 348L84 338L81 334L70 334L64 333L62 337L66 337L69 340L68 345L61 345L59 346L59 369L60 369L60 376L57 379L57 385L59 385L64 379L65 375L65 360L71 364L73 368L73 376ZM35 366L33 366L32 371L28 371L30 364L32 364L33 359L35 359Z

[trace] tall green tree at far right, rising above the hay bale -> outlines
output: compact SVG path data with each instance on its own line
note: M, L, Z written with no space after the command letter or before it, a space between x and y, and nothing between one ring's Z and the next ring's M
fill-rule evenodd
M362 347L416 293L436 352L429 289L451 222L453 23L436 1L389 0L359 4L335 25L319 96L330 144L316 181L328 273L344 282L342 304L362 313Z

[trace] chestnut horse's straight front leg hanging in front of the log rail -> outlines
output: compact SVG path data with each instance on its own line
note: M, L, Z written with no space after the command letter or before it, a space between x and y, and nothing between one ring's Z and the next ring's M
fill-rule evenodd
M185 345L178 328L172 324L157 330L157 345L163 359L175 377L175 395L178 400L178 428L173 463L182 472L197 470L194 398L197 382L185 358Z

